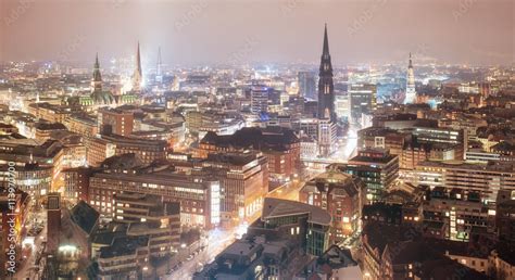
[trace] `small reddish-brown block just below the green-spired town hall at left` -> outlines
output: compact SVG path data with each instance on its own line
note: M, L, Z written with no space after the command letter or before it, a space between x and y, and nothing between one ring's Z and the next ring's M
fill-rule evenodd
M98 131L129 136L134 129L134 113L116 109L101 109L98 112Z

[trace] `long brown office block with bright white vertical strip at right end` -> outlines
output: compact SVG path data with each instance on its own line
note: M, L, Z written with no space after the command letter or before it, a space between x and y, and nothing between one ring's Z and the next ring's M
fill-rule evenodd
M163 196L180 202L180 224L212 228L221 220L221 183L201 176L159 170L123 169L96 173L89 179L89 203L105 218L114 216L114 198L121 191ZM110 170L110 169L108 169Z

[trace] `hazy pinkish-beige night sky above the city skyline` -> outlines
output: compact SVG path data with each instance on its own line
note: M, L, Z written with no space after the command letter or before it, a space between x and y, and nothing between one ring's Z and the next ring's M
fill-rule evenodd
M0 0L0 61L513 64L514 0Z

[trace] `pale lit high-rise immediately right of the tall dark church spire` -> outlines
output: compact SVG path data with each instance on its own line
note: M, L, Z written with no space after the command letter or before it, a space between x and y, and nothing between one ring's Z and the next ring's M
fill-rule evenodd
M354 84L349 88L350 122L361 124L363 115L376 110L377 86L373 84Z

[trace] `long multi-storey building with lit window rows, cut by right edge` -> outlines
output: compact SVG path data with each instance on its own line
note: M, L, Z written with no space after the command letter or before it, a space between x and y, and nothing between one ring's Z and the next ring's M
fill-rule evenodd
M415 168L415 181L431 189L444 187L479 193L482 203L494 202L499 190L515 190L512 163L491 165L463 162L422 162Z

